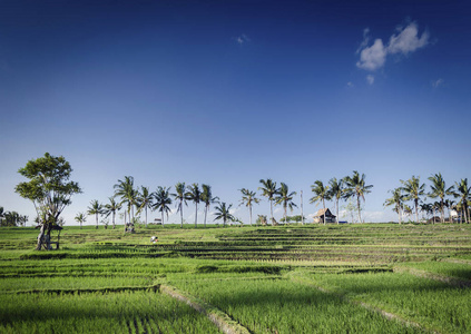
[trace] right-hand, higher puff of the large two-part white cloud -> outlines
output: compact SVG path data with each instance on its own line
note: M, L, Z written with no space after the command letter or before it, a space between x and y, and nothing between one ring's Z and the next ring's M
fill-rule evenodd
M408 55L416 49L423 48L429 43L429 33L422 32L422 36L418 36L419 29L415 22L410 23L404 29L399 29L399 35L393 35L390 38L390 45L387 51L390 53L403 53Z

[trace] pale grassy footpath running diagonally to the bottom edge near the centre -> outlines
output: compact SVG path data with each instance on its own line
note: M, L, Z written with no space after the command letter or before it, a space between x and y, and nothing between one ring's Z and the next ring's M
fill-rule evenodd
M167 294L178 301L187 303L189 306L205 314L223 333L226 334L249 334L251 332L232 320L227 314L216 307L196 298L184 295L175 287L160 285L160 292Z

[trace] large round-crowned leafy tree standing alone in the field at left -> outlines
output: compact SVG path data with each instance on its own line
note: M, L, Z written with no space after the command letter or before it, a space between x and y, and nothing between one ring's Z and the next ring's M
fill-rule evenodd
M71 196L81 189L78 183L69 180L72 168L62 156L46 153L41 158L29 160L18 173L29 181L18 184L14 190L33 203L41 227L36 249L41 249L43 244L50 249L52 228L62 210L71 204Z

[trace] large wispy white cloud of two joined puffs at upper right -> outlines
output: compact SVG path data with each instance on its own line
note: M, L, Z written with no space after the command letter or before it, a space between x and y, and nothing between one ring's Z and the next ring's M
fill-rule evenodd
M356 50L356 53L360 53L356 67L369 71L382 68L386 62L387 55L406 56L429 45L429 33L424 31L419 37L419 28L415 22L398 28L398 33L390 37L387 45L384 45L383 40L377 38L372 46L369 46L369 33L370 29L363 30L363 41Z

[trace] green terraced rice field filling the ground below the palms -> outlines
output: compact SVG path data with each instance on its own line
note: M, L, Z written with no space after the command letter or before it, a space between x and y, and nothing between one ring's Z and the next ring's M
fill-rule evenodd
M471 332L468 225L66 227L53 252L35 238L1 230L1 333Z

